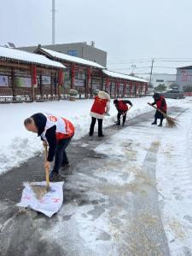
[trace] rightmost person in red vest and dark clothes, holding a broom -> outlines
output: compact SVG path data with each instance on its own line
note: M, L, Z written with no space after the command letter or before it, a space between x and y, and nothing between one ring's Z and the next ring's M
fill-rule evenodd
M159 93L156 92L154 93L153 98L154 98L154 102L151 105L156 105L157 108L159 108L164 113L166 113L167 105L166 105L166 100L164 96L161 96ZM158 110L154 114L154 122L151 125L157 125L157 119L160 119L160 125L158 126L161 127L163 125L164 115L160 113L160 111Z

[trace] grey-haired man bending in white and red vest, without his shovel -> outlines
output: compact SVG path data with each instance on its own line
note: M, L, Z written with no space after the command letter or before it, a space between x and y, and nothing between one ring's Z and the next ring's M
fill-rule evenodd
M61 166L69 165L66 148L74 135L73 124L64 118L51 113L34 113L25 119L24 125L27 131L38 133L44 146L49 145L49 152L44 167L50 168L50 162L55 158L54 168L49 172L51 181L60 177Z

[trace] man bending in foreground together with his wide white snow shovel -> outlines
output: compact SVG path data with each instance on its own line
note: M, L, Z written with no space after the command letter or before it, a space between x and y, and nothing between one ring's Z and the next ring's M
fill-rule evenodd
M61 166L68 166L66 148L74 135L73 124L64 118L51 113L35 113L25 119L27 131L38 133L44 142L46 182L24 183L21 201L17 206L30 207L51 217L61 208L63 201L63 182L49 183L58 180ZM47 151L49 145L49 152ZM54 160L53 171L49 173L50 162Z

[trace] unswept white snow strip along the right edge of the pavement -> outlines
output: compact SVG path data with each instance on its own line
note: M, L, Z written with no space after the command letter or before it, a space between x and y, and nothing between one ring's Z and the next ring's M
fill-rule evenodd
M180 126L160 140L157 181L171 254L192 253L192 102L178 116Z

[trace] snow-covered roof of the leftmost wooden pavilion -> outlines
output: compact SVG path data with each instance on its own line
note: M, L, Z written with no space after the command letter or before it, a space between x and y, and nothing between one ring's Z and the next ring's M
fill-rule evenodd
M60 62L51 61L44 55L37 55L29 53L20 49L11 49L6 47L0 47L0 59L5 58L12 61L24 61L32 64L39 64L49 67L61 67L66 68Z

